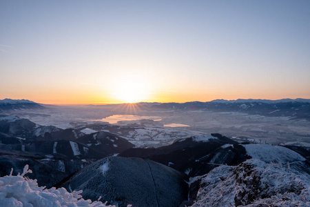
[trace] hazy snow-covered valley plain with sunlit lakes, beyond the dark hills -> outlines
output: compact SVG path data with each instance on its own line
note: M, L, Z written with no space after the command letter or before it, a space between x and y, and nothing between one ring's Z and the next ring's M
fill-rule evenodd
M173 139L191 135L220 133L236 141L250 141L262 144L296 143L310 144L310 122L289 117L264 117L239 112L207 111L158 111L139 108L112 106L50 106L45 110L17 110L12 115L30 119L36 124L58 128L81 128L85 134L105 127L92 128L92 125L111 126L108 117L119 115L112 126L121 130L110 131L131 141L149 141L155 146L169 144ZM115 118L115 116L114 116ZM130 119L128 119L130 118ZM132 120L134 118L135 120ZM138 119L150 119L143 122ZM101 121L94 121L101 120ZM132 130L124 130L124 128ZM87 128L86 128L87 127ZM164 139L169 139L161 143ZM160 142L158 142L160 141Z

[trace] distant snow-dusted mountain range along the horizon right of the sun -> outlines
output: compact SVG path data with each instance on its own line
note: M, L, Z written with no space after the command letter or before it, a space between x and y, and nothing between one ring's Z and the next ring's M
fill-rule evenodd
M310 99L238 99L209 102L161 103L149 106L148 110L205 110L211 112L242 112L266 117L290 117L310 120Z

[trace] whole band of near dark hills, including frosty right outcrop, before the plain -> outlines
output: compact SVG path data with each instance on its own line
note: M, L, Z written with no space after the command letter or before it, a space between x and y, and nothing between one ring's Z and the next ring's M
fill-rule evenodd
M220 134L136 148L125 137L0 117L0 174L29 165L40 186L117 206L309 206L310 148Z

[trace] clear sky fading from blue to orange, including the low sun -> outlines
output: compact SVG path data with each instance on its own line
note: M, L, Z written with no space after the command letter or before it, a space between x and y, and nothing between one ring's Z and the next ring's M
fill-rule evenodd
M310 98L310 1L0 1L0 99Z

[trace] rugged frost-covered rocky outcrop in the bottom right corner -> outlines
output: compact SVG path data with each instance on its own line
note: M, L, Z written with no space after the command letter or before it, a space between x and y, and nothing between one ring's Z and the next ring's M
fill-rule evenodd
M310 206L309 174L258 159L219 166L195 182L192 206Z

